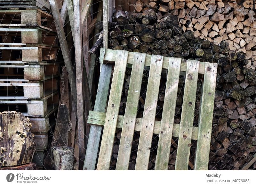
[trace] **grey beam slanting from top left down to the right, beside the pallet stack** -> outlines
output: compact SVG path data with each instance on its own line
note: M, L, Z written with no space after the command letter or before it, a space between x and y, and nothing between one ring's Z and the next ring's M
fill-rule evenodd
M61 47L64 63L66 65L66 69L68 72L68 80L69 80L69 83L71 86L72 97L75 101L75 108L77 108L77 106L76 106L76 102L77 102L76 101L76 83L75 83L76 78L75 78L75 74L73 73L73 65L71 62L71 58L69 56L68 43L67 43L65 32L63 29L63 24L62 24L62 21L60 18L60 12L57 7L56 0L49 0L49 2L51 5L51 9L52 9L52 16L53 16L53 19L55 20L55 26L56 26L58 38L60 41L60 47Z

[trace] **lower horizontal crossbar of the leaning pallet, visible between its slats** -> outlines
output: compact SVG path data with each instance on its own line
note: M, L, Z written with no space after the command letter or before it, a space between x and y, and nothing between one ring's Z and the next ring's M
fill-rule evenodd
M89 117L88 117L88 123L90 123L92 125L91 127L93 127L94 125L104 126L105 118L106 118L105 112L90 111ZM124 123L124 116L118 115L118 121L117 121L116 128L122 129L123 123ZM135 128L134 128L135 131L141 130L141 123L142 123L142 119L136 118ZM161 121L155 121L153 134L158 135L160 133L160 125L161 125ZM173 130L172 130L172 136L179 137L179 132L180 132L180 124L174 123ZM192 140L197 140L197 137L198 137L198 127L193 127Z

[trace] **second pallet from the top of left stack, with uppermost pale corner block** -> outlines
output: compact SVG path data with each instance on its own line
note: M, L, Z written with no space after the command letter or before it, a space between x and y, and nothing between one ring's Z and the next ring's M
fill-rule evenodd
M55 24L52 15L39 9L0 10L0 23L1 26L40 27L55 32Z

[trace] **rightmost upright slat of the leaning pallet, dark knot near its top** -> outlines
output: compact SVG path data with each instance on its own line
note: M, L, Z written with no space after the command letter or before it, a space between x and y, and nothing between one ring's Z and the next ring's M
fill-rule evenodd
M212 134L217 64L205 63L203 95L201 98L195 170L208 170Z

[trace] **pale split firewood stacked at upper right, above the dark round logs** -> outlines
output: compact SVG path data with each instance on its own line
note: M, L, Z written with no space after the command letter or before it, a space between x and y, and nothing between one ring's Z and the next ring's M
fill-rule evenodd
M215 44L227 41L231 50L255 56L256 1L221 0L138 0L133 13L152 8L158 16L177 15L183 31L192 30L196 37ZM253 52L254 51L254 52Z

